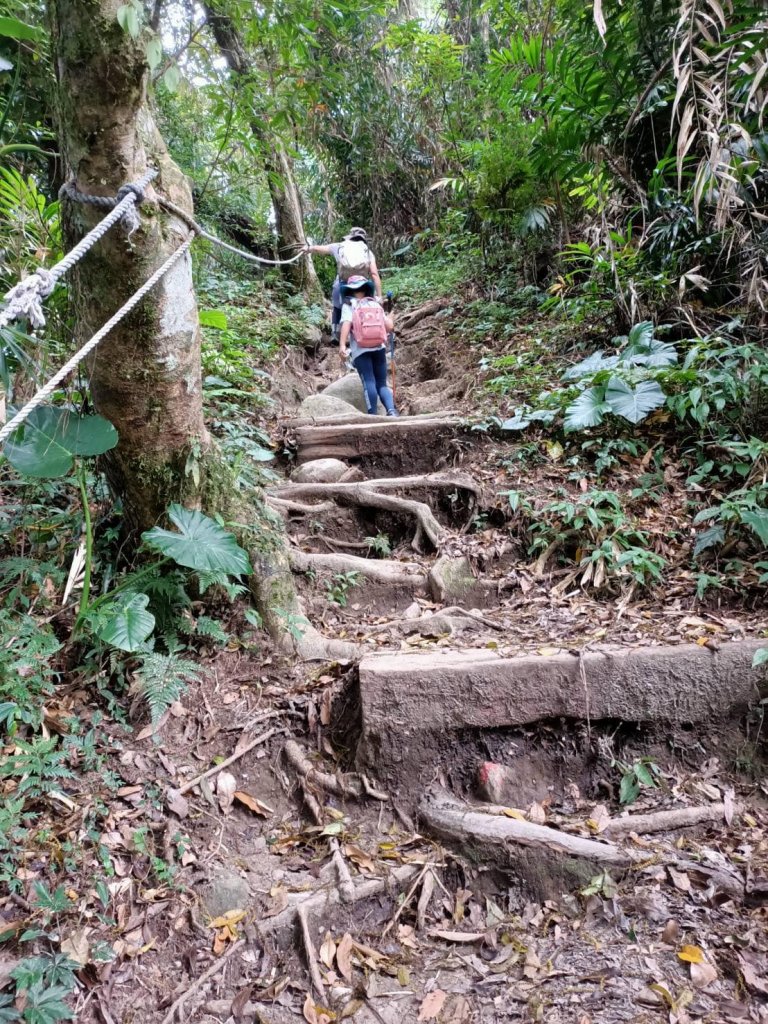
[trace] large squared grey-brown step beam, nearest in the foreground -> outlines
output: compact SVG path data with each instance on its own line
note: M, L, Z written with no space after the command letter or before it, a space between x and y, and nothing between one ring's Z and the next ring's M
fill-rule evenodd
M370 654L359 666L357 757L402 786L444 737L542 719L720 722L759 699L755 651L765 641L603 647L500 657L492 651Z

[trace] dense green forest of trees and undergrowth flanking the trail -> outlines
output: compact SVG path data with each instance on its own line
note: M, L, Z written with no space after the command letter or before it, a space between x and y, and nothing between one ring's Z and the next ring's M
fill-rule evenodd
M622 614L675 593L749 616L768 581L767 113L762 0L0 0L0 285L95 223L73 173L114 195L142 146L166 199L188 189L196 220L252 256L362 225L398 315L440 300L429 366L401 379L411 409L443 377L497 445L468 536L506 531L537 581L556 565ZM167 213L142 207L45 323L0 328L0 424L165 258ZM217 651L270 665L317 641L264 496L296 454L284 398L334 272L199 239L188 394L140 376L169 292L0 454L0 887L29 910L34 882L25 942L69 912L81 847L109 861L96 801L45 854L50 877L25 874L51 806L72 811L97 773L124 785L110 729L153 735ZM325 596L345 607L358 582ZM336 641L312 656L349 655ZM141 854L158 886L185 863L172 846ZM67 1019L72 959L23 964L0 1020Z

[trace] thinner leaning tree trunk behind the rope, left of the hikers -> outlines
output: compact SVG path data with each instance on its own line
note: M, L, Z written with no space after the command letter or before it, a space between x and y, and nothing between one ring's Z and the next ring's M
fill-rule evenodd
M205 11L208 25L226 60L227 68L238 82L246 86L255 68L254 61L243 45L237 26L216 4L206 3ZM301 194L296 183L293 162L286 153L282 139L265 130L264 123L263 112L255 110L251 103L251 132L260 142L264 153L264 170L278 231L278 252L281 259L287 259L294 256L297 249L306 242ZM283 273L307 301L322 299L323 289L310 256L284 266Z

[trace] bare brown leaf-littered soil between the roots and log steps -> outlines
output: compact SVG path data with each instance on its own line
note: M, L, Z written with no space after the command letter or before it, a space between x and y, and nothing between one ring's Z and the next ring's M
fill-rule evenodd
M449 347L447 335L439 313L399 339L402 414L476 412L476 353ZM270 426L289 451L293 409L337 371L338 352L326 344L292 356L278 375L284 403ZM762 635L764 615L749 601L696 600L682 559L689 542L679 536L684 492L671 467L659 467L662 500L635 500L657 552L673 564L680 556L663 595L640 597L626 581L613 593L594 594L558 563L566 551L531 562L519 515L500 492L524 492L536 503L551 497L555 483L573 495L583 485L568 479L544 441L532 464L516 458L519 447L462 431L434 453L433 467L471 475L480 484L479 502L429 488L409 495L428 502L451 530L441 553L465 556L478 579L493 582L482 615L496 629L403 633L400 624L438 608L430 597L351 582L331 600L334 581L323 572L301 581L313 624L369 650L461 645L547 653L598 641L720 643ZM367 475L386 469L361 468ZM629 494L641 469L625 460L614 474L616 490ZM397 472L412 471L403 450ZM288 530L306 552L385 537L391 551L372 547L371 557L418 563L425 573L435 561L434 552L413 550L414 524L406 514L334 507L316 517L290 514ZM516 773L508 813L565 831L599 837L608 818L626 811L623 778L638 765L652 766L653 784L638 786L633 813L714 802L728 808L715 823L631 836L626 843L646 854L631 870L598 871L543 894L536 853L527 866L520 860L510 870L487 850L452 849L422 835L415 804L334 796L312 774L302 791L282 757L289 738L298 739L319 771L353 773L353 665L297 666L259 636L250 646L212 651L202 668L200 684L171 708L156 735L141 719L129 734L118 725L104 728L92 695L77 689L60 692L60 707L50 708L52 719L66 710L101 730L106 768L77 775L68 790L72 807L53 802L60 816L52 837L30 851L23 891L0 902L0 928L42 924L55 934L55 918L43 920L30 906L32 887L40 879L55 884L57 872L68 879L68 898L80 916L57 939L65 949L85 950L78 1021L166 1024L185 992L176 1019L195 1024L768 1021L768 785L759 710L749 721L713 722L695 732L663 723L640 729L548 721L445 737L424 785L438 780L476 800L478 764L505 765ZM263 742L179 795L261 735ZM376 779L351 774L347 790L353 783L367 791ZM106 808L100 834L86 836L86 811L98 802ZM79 880L67 874L68 844L99 851ZM382 880L380 892L351 905L330 899L343 881L335 846L352 883ZM738 874L743 898L694 867L669 866L683 858ZM103 867L113 872L109 893L93 888L88 866L94 874ZM396 884L395 868L412 874ZM324 893L327 905L317 903ZM311 950L296 921L270 931L269 922L300 899L314 899ZM109 962L99 959L99 948L111 948ZM312 988L310 959L322 992ZM219 970L201 983L215 965Z

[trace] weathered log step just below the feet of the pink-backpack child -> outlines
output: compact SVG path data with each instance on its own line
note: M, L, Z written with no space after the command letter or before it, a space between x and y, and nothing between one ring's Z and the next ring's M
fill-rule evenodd
M321 423L296 430L299 463L314 459L366 459L395 456L413 468L429 469L452 438L466 433L458 418L374 419L352 425Z

